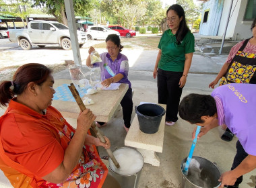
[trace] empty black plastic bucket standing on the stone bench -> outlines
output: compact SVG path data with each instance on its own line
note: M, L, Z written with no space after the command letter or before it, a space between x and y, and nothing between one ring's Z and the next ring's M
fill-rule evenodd
M160 105L145 103L135 107L135 113L139 120L139 130L146 134L154 134L158 132L165 110Z

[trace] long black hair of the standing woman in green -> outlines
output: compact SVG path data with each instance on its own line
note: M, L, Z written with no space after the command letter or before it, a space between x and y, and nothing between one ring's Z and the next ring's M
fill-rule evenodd
M175 34L177 44L181 44L181 41L183 40L183 38L185 38L187 32L190 32L189 27L187 26L187 23L186 23L185 11L184 11L183 7L181 7L181 5L178 5L178 4L171 5L167 9L166 15L167 15L168 11L170 11L170 10L175 11L177 13L177 15L179 15L179 18L183 17L183 19L180 22L179 29L177 30L177 33Z

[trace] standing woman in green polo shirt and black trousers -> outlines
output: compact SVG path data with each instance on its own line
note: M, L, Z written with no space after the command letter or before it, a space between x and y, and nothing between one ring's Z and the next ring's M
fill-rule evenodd
M195 38L187 27L181 5L171 5L166 19L170 29L158 44L153 77L158 78L158 103L166 104L166 125L172 126L178 120L181 93L195 52Z

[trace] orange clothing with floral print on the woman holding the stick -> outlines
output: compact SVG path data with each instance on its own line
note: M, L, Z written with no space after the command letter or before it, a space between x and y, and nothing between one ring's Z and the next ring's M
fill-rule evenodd
M67 183L71 187L101 187L107 169L95 146L84 146L67 182L55 184L41 179L61 164L74 133L54 107L42 115L11 100L0 118L0 169L13 187L66 187Z

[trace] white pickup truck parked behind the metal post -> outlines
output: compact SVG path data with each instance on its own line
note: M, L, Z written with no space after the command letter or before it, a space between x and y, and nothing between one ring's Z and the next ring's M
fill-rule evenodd
M64 50L71 49L69 28L57 21L30 21L28 29L9 29L9 40L18 42L24 50L30 50L32 45L44 48L49 44L59 44ZM79 48L87 41L85 32L77 31Z

